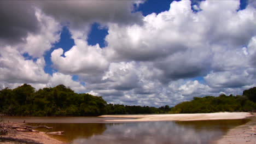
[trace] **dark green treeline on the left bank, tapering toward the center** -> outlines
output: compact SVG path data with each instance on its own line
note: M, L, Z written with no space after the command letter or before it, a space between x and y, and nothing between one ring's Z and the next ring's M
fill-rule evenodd
M107 104L102 97L75 93L64 85L38 91L24 84L0 91L0 113L8 116L98 116L110 114L167 113L170 107Z

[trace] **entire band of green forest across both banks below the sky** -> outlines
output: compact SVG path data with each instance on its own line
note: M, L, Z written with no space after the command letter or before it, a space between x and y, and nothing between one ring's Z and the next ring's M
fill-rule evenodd
M256 87L243 95L195 97L174 107L107 104L102 97L75 93L64 85L38 91L30 85L0 91L0 113L8 116L98 116L150 113L208 113L220 111L255 111Z

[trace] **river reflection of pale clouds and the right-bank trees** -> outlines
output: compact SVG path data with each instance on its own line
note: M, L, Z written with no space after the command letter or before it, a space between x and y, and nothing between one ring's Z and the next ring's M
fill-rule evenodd
M106 124L106 131L73 143L211 143L243 120Z

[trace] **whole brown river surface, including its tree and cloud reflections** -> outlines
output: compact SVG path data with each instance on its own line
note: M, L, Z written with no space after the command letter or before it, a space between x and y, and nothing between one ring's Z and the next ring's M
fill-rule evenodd
M162 143L207 144L220 139L229 129L245 124L248 119L186 122L104 122L102 117L4 117L5 121L30 125L47 125L49 131L65 131L51 135L68 143ZM118 118L114 118L118 119ZM122 119L122 118L120 118ZM126 118L127 119L127 118ZM45 129L39 129L46 131Z

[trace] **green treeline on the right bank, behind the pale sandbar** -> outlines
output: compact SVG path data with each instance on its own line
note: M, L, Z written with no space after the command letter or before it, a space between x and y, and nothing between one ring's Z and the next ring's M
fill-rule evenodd
M191 101L184 101L172 108L170 113L209 113L235 112L256 110L256 87L243 91L243 95L225 95L219 97L194 97Z

